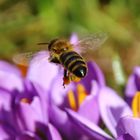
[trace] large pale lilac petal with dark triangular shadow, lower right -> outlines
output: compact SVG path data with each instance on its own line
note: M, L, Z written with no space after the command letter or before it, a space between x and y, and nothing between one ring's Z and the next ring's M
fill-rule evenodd
M100 90L99 107L104 123L116 138L117 133L115 128L118 120L126 115L132 116L131 109L114 90L108 87L103 87Z

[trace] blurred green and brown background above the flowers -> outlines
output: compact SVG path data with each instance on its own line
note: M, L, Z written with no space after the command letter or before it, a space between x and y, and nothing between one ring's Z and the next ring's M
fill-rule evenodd
M0 59L73 32L108 33L90 58L113 87L140 65L140 0L0 0Z

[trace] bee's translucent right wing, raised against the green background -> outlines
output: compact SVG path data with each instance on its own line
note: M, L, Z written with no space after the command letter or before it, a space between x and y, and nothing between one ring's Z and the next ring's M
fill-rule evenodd
M97 33L94 35L89 35L79 40L76 44L74 44L74 48L78 50L80 54L85 54L87 52L93 52L106 41L107 34L106 33Z

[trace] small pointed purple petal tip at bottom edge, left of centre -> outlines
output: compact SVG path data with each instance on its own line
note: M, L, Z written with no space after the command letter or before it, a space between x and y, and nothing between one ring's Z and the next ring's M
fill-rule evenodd
M48 133L48 135L50 136L48 137L48 140L62 140L57 129L51 124L48 124Z

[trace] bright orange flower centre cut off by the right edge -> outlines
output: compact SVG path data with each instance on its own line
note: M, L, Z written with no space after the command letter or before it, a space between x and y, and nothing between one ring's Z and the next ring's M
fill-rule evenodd
M135 94L132 100L132 110L134 117L140 118L140 91Z

